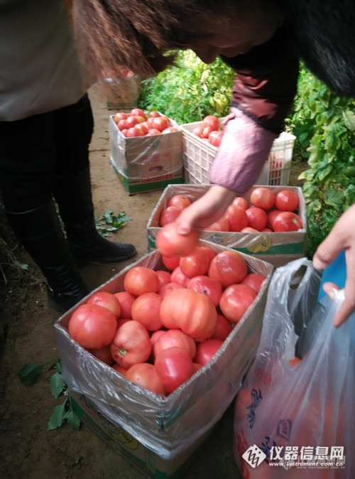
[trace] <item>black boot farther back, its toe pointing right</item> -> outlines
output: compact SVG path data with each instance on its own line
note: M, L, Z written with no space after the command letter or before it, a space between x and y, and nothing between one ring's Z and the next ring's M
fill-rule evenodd
M76 175L55 176L53 192L72 255L79 264L119 262L136 254L133 244L109 241L97 231L89 168Z

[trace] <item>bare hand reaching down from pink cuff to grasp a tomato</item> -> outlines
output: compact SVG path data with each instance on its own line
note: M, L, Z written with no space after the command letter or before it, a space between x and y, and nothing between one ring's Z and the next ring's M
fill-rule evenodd
M219 220L235 195L234 191L224 186L211 186L207 193L180 212L176 220L180 235L187 235L192 228L204 230Z

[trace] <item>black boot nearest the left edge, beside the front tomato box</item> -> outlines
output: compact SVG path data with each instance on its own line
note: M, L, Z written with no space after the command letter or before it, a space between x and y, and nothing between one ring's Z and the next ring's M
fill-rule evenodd
M89 293L77 271L53 200L34 210L6 211L16 237L48 281L48 304L64 313Z

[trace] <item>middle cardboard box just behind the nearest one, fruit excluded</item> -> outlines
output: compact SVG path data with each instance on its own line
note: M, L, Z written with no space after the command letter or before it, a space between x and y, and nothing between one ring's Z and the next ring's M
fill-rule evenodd
M185 195L190 200L197 200L210 188L210 185L168 185L155 205L147 224L148 251L155 248L155 237L160 230L160 213L174 195ZM249 200L251 191L256 188L254 185L244 195ZM280 190L295 191L300 199L299 215L302 220L303 229L296 232L282 233L239 233L239 232L214 232L204 231L200 237L209 242L223 244L224 246L236 249L253 257L263 259L275 267L305 256L306 250L306 207L302 189L296 186L268 186L274 193Z

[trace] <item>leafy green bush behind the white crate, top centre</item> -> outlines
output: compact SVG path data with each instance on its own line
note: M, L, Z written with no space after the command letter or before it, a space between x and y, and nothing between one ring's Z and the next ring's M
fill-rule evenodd
M178 124L200 122L207 114L224 117L229 112L234 77L222 60L206 65L186 50L179 53L176 66L143 80L138 104Z

